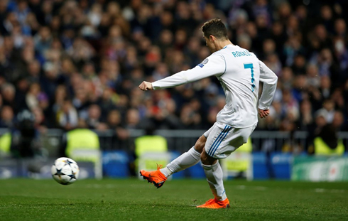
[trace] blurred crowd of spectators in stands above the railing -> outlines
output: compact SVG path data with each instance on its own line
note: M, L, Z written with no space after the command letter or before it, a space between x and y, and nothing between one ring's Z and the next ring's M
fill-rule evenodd
M271 115L257 129L348 130L344 0L1 0L1 128L23 109L34 126L65 130L208 129L224 107L207 78L143 92L143 81L210 55L200 27L221 18L232 43L278 75ZM261 90L260 90L261 92ZM23 114L22 114L23 115Z

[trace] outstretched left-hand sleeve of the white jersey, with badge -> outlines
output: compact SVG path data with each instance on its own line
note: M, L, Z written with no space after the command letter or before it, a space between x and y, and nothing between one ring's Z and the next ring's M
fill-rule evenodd
M175 87L189 82L201 80L205 77L222 75L226 70L226 62L223 55L212 54L195 68L180 71L169 77L152 83L153 89Z

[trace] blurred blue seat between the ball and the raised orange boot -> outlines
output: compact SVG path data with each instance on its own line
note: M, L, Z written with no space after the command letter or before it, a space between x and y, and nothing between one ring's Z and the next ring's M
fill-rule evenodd
M110 178L129 176L129 156L125 151L103 151L102 165L104 176Z

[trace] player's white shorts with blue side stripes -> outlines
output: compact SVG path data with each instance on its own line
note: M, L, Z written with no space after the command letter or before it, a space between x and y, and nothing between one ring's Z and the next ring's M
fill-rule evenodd
M233 151L248 141L257 123L246 128L233 128L228 124L215 122L205 132L205 152L213 158L227 158Z

